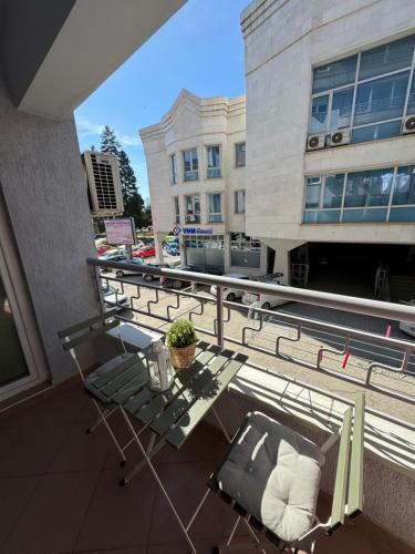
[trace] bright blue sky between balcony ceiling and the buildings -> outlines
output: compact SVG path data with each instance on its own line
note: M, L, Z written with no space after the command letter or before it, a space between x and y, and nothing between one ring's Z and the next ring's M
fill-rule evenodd
M75 112L81 151L113 127L148 197L138 129L157 123L181 89L199 96L245 92L240 12L249 0L188 0Z

